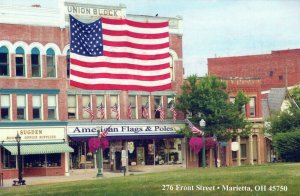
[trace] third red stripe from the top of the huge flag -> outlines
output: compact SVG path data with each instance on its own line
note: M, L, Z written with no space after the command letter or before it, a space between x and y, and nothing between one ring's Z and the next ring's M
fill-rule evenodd
M114 42L103 40L103 45L105 46L116 46L116 47L129 47L129 48L136 48L136 49L144 49L144 50L154 50L154 49L164 49L169 47L169 42L162 43L162 44L136 44L132 42Z

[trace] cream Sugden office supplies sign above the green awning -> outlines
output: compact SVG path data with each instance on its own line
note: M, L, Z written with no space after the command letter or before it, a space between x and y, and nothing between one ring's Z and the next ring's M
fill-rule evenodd
M0 141L15 142L19 133L21 141L45 141L65 139L63 127L1 128Z

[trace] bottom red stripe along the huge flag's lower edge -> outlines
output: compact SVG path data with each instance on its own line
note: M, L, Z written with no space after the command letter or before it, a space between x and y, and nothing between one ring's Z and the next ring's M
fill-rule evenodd
M123 85L123 84L83 84L79 82L75 82L70 80L70 85L75 86L78 88L82 89L87 89L87 90L123 90L123 91L128 91L128 90L140 90L140 91L162 91L162 90L167 90L171 88L171 84L165 84L161 86L139 86L139 85Z

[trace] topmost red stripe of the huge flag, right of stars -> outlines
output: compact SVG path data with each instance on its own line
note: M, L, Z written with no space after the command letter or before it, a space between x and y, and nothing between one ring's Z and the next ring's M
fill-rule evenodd
M128 19L111 19L111 18L101 18L102 23L111 24L111 25L123 25L127 24L133 27L140 28L163 28L169 26L169 22L137 22Z

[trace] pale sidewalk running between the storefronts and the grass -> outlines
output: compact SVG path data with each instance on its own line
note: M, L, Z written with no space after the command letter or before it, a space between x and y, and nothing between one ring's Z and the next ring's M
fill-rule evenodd
M157 166L134 166L129 168L129 175L139 175L145 173L163 172L184 169L182 165L157 165ZM111 177L123 177L124 173L121 172L111 172L104 171L103 177L96 177L97 169L80 169L71 170L69 176L39 176L39 177L24 177L26 180L26 185L38 185L38 184L50 184L58 182L70 182L70 181L82 181L82 180L99 180ZM11 187L13 180L16 179L6 179L4 180L4 187Z

